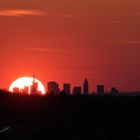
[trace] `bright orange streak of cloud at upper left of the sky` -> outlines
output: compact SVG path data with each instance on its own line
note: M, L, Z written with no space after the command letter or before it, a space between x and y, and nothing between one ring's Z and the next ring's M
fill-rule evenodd
M0 10L0 16L18 17L18 16L40 16L44 12L40 10L26 10L26 9L8 9Z

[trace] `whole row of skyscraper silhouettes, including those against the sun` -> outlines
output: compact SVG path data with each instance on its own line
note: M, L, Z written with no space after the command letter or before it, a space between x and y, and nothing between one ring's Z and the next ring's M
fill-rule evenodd
M14 93L24 93L24 94L41 94L41 91L38 91L38 82L35 81L35 76L33 76L33 81L30 86L25 86L23 89L20 89L18 87L13 88ZM85 78L83 82L83 86L75 86L73 89L71 89L71 84L70 83L64 83L63 84L63 89L60 90L59 84L55 81L50 81L47 83L47 94L85 94L89 95L89 83L87 78ZM99 96L103 96L105 94L108 94L105 91L104 85L97 85L96 87L96 92L93 93ZM113 87L111 88L110 94L112 95L117 95L118 90Z

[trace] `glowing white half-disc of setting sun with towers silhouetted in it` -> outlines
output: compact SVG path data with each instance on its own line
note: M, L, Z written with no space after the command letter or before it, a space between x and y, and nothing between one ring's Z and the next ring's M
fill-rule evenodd
M10 92L27 94L45 94L43 84L33 77L21 77L16 79L9 88Z

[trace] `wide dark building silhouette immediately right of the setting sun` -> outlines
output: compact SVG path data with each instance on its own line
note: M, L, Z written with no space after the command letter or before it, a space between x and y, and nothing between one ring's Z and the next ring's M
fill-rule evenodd
M59 84L54 81L50 81L47 85L47 88L48 88L48 93L54 93L54 94L60 93Z

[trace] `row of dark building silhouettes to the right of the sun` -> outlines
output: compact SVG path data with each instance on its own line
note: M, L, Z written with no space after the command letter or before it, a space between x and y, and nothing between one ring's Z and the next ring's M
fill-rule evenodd
M70 85L70 83L64 83L62 91L65 94L85 94L85 95L88 95L88 94L90 94L89 93L89 83L88 83L88 80L87 80L87 78L85 78L85 80L83 82L83 87L75 86L72 89L72 92L71 92L71 85ZM60 88L59 88L59 84L57 82L55 82L55 81L48 82L48 84L47 84L47 92L48 93L53 93L53 94L59 94L61 92ZM96 93L94 93L94 94L97 94L99 96L103 96L103 95L107 94L105 92L104 85L97 85L97 90L96 90ZM117 95L118 94L118 90L115 87L112 87L111 91L110 91L110 94Z

